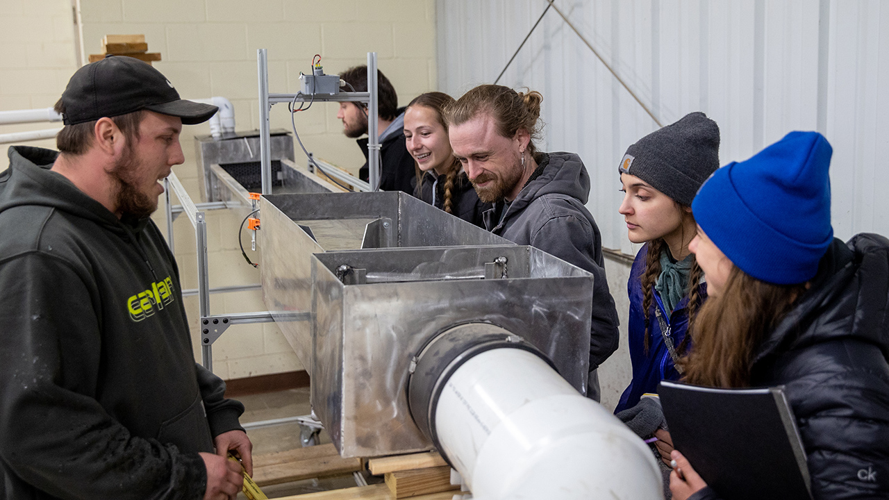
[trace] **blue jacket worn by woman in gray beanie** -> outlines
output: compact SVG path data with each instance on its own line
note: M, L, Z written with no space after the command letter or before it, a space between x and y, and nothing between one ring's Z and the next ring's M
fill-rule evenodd
M633 268L629 271L627 293L629 294L629 359L633 364L633 380L621 395L621 401L614 413L635 407L645 392L657 392L661 380L678 380L679 372L673 366L667 345L661 335L661 324L654 314L654 308L660 308L664 319L669 325L669 335L673 337L673 345L677 348L685 338L688 330L688 295L682 298L671 314L664 309L661 295L652 290L652 309L649 311L648 352L645 352L645 315L642 309L642 275L645 274L645 257L648 244L639 250ZM707 286L701 286L701 298L707 297Z

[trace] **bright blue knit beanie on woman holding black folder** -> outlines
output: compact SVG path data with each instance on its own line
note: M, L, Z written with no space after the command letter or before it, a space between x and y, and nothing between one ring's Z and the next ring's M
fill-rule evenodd
M734 265L768 283L804 283L833 239L828 167L816 132L791 132L718 169L692 202L695 221Z

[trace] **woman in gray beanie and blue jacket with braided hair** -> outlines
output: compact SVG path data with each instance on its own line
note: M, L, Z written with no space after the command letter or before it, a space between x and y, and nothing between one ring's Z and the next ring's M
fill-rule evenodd
M629 240L645 243L629 273L629 356L633 379L615 413L669 463L669 434L659 429L660 406L640 397L661 380L678 380L676 361L689 346L685 335L707 298L703 273L688 244L697 231L694 194L719 168L719 127L703 113L690 113L649 133L627 149L619 171L624 193L618 212ZM669 468L665 469L669 474Z

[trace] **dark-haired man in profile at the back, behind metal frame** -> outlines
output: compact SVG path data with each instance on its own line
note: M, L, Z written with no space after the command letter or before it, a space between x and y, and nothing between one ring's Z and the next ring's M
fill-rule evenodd
M349 68L340 74L348 85L340 87L342 92L367 92L367 66ZM380 190L404 191L412 194L411 180L414 178L413 157L404 146L404 108L398 108L398 95L382 71L377 69L377 133L380 134ZM351 85L351 87L349 87ZM358 147L368 157L367 107L362 102L340 102L336 117L342 120L342 133L357 139ZM358 171L358 177L367 181L370 177L370 161L365 160Z

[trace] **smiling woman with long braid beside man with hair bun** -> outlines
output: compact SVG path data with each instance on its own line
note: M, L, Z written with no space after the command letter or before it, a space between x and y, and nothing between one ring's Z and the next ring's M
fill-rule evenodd
M453 102L446 93L420 94L404 111L404 140L415 160L413 196L464 221L485 227L482 213L491 207L478 199L476 190L453 157L442 109Z

